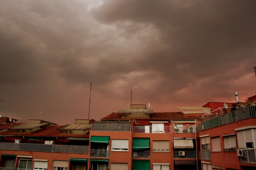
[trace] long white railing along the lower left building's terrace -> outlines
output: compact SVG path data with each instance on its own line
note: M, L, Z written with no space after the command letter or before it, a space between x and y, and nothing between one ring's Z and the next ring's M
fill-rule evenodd
M78 145L0 143L0 150L88 154L88 149L89 146Z

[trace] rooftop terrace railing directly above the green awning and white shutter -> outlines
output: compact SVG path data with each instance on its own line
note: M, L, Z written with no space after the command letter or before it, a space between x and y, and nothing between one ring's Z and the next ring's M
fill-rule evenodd
M130 132L130 124L92 124L91 131Z

